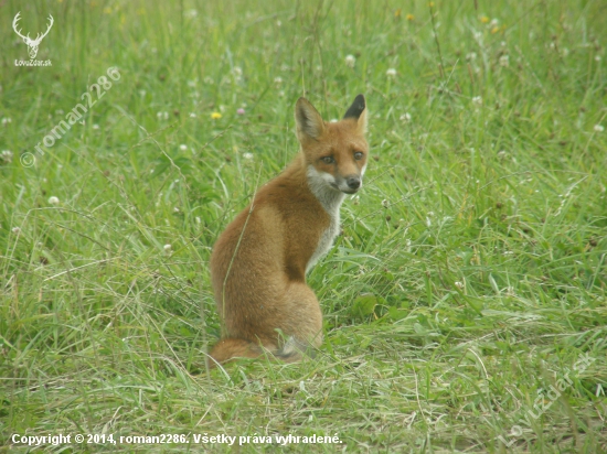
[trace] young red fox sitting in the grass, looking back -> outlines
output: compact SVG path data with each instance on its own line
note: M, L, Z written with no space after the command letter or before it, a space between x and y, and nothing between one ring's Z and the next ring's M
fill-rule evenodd
M295 120L300 152L257 191L211 255L223 329L211 350L217 364L264 353L291 363L322 343L322 314L306 273L331 248L345 194L362 186L365 99L356 96L341 121L324 122L299 98Z

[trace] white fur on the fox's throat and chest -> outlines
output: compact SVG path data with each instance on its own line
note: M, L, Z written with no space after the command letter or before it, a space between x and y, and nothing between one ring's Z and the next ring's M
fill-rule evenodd
M306 266L306 272L310 271L315 263L331 249L333 239L339 234L339 208L345 195L341 191L329 185L332 179L332 175L318 172L311 165L308 166L308 184L310 185L310 191L318 198L327 214L329 214L331 221L329 227L320 235L318 246Z

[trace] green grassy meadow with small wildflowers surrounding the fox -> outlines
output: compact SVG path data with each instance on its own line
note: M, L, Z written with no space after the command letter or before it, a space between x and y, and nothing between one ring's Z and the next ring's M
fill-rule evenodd
M0 445L337 434L286 451L607 451L607 9L475 3L0 6L0 151L13 153L0 161ZM18 11L32 35L53 14L38 55L52 66L14 65L28 58ZM84 123L36 153L113 66L121 77ZM308 279L321 352L207 372L217 235L296 153L296 99L332 119L359 93L374 160ZM187 447L204 446L44 450Z

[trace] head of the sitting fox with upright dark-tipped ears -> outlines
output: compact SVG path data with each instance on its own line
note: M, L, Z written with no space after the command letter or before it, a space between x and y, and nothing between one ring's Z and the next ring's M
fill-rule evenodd
M359 95L340 121L326 122L306 98L295 106L297 138L315 185L328 191L354 194L362 187L366 169L369 144L366 132L366 105Z

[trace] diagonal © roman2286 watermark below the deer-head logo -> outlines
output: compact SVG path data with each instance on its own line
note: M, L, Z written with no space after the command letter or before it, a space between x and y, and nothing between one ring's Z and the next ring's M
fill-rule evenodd
M114 82L120 79L120 73L115 66L109 67L106 74L107 77L109 77ZM90 85L88 87L88 90L82 94L81 99L87 99L86 106L83 106L79 102L74 106L74 108L70 110L65 116L65 120L61 120L53 129L51 129L51 132L44 136L42 142L36 143L34 149L41 156L44 155L42 144L44 144L44 147L46 148L53 147L55 144L55 141L61 139L67 131L70 131L70 129L74 125L76 125L77 121L81 121L88 109L90 109L99 99L102 99L105 96L106 91L111 88L111 82L109 82L107 77L100 76L97 79L96 84ZM97 99L94 100L93 96L88 91L96 93ZM26 152L23 153L19 160L21 161L21 165L23 165L24 167L31 167L32 165L34 165L35 155L33 153Z

